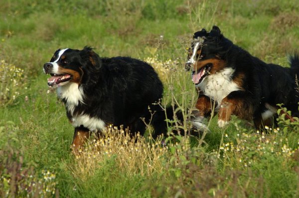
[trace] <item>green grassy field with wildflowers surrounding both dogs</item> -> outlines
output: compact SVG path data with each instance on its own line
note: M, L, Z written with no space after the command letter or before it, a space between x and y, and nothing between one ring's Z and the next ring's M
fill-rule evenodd
M186 110L196 99L184 71L194 31L216 24L288 66L299 49L295 0L1 0L0 16L0 197L299 197L298 121L280 117L262 134L237 118L220 129L214 118L205 137L166 146L111 127L74 156L73 127L42 72L58 48L140 58L160 75L163 104Z

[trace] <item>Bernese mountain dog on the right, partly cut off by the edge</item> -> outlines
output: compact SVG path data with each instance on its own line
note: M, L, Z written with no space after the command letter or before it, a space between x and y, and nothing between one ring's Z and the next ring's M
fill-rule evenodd
M212 110L218 112L219 127L226 126L231 115L253 121L257 129L272 126L277 104L299 115L297 53L289 58L291 68L267 64L213 26L209 32L194 33L187 59L185 69L192 68L192 81L199 90L196 108L205 117Z

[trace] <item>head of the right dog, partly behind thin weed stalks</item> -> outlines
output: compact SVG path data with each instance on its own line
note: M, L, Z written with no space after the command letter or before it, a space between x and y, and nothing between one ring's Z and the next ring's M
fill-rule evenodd
M192 69L192 81L195 85L202 82L207 75L225 67L226 52L231 44L217 26L213 26L209 32L202 29L194 33L185 69Z

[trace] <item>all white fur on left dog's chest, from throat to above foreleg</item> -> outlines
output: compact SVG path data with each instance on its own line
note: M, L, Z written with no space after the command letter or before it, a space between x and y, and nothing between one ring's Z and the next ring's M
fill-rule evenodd
M105 122L100 118L91 117L87 112L81 112L78 115L74 115L74 110L76 106L78 106L79 102L84 103L84 92L82 86L78 87L77 83L69 83L58 87L57 94L60 99L64 99L66 101L66 109L72 116L71 122L74 127L83 125L90 131L105 130Z

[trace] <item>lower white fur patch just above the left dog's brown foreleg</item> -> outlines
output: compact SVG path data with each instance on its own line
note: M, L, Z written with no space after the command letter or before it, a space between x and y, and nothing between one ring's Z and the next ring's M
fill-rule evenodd
M106 127L105 122L100 118L93 118L86 114L74 116L72 118L72 125L74 127L83 125L90 131L104 131Z

